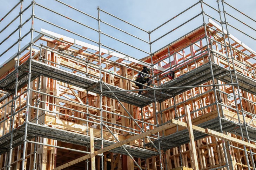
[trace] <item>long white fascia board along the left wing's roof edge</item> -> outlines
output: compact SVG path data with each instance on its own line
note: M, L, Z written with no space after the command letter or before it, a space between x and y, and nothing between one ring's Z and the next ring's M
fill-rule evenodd
M72 44L80 45L80 46L83 46L83 47L87 47L88 49L99 51L99 46L88 44L88 43L82 42L80 40L76 40L76 39L73 39L73 38L70 38L70 37L66 37L66 36L63 36L63 35L60 35L60 34L57 34L55 32L48 31L48 30L45 30L45 29L42 29L42 28L41 28L41 32L46 34L46 35L50 35L50 36L53 36L53 37L56 37L56 38L63 38L64 41L70 42ZM117 53L117 52L113 52L113 51L103 49L103 48L101 48L101 52L105 53L105 54L109 54L113 57L117 57L117 58L121 58L121 59L130 61L130 62L135 62L136 64L151 67L150 64L147 65L147 64L145 64L145 63L143 63L139 60L130 58L129 56L125 56L125 55ZM162 68L162 67L159 67L159 66L154 66L154 69L157 69L157 70L160 70L160 71L165 70L165 68Z

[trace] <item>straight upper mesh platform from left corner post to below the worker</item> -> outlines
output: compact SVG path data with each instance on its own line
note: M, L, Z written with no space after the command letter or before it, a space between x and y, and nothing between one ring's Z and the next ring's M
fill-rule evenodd
M29 71L29 62L26 62L20 66L20 69L23 72ZM66 71L61 68L57 68L48 64L45 64L40 61L32 60L31 72L33 75L41 75L49 77L50 79L58 80L63 83L68 83L70 85L80 87L83 89L90 89L90 91L100 94L100 83L97 80L85 77L83 75L75 74L69 71ZM110 84L102 83L102 91L122 91L123 89L119 87L112 86ZM112 93L103 93L103 96L107 96L115 99L115 96ZM124 103L132 104L135 106L145 106L152 103L154 100L145 96L138 95L133 92L120 92L115 93L116 97Z

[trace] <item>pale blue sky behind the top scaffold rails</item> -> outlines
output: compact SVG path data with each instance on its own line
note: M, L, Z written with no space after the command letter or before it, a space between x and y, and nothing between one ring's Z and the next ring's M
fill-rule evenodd
M165 21L169 20L170 18L174 17L178 13L182 12L184 9L188 8L189 6L193 5L194 3L198 2L197 0L179 0L179 1L170 1L170 0L94 0L94 1L87 1L87 0L62 0L63 2L78 8L79 10L82 10L83 12L90 14L94 17L97 17L97 6L100 6L101 9L120 17L123 20L126 20L134 25L137 25L138 27L144 29L144 30L153 30L160 24L164 23ZM1 1L1 10L0 10L0 17L3 17L18 1ZM209 5L213 6L214 8L217 8L217 3L214 0L204 0L204 2L208 3ZM225 2L231 4L232 6L236 7L237 9L241 10L243 13L249 15L250 17L255 18L256 12L255 12L255 6L256 1L255 0L245 0L243 3L241 3L241 0L226 0ZM29 3L31 3L31 0L25 0L23 2L23 9L26 8ZM57 3L54 0L36 0L36 3L43 5L47 8L50 8L52 10L55 10L58 13L61 13L63 15L66 15L74 20L77 20L79 22L82 22L83 24L86 24L90 27L93 27L95 29L98 29L97 21L94 19L91 19L90 17L87 17L77 11L72 10L69 7L66 7L60 3ZM220 2L221 3L221 2ZM221 7L222 10L222 7ZM236 12L234 9L225 6L225 10L232 14L233 16L237 17L239 20L242 20L243 22L247 23L253 28L256 28L256 23L248 19L247 17L244 17L242 14ZM27 20L29 16L31 15L32 9L29 8L24 15L22 15L22 22ZM218 13L214 11L213 9L207 7L204 5L204 11L209 14L210 16L213 16L214 18L219 19ZM19 13L19 7L16 7L15 10L9 14L0 24L0 30L4 28L16 15ZM164 27L156 30L151 34L151 40L156 39L157 37L160 37L161 35L165 34L166 32L174 29L178 25L186 22L191 17L201 13L201 6L197 5L190 10L188 10L186 13L182 14L181 16L178 16L173 21L166 24ZM88 37L90 39L93 39L95 41L98 41L98 33L83 27L80 24L68 21L62 16L58 16L52 12L47 12L47 10L35 6L35 16L40 17L44 20L47 20L49 22L52 22L54 24L57 24L63 28L66 28L68 30L74 31L82 36ZM115 27L118 27L124 31L129 32L130 34L133 34L137 37L140 37L144 40L149 40L149 36L146 32L143 32L139 29L135 29L132 26L120 22L119 20L110 17L109 15L101 12L100 18L102 21L105 21L109 24L114 25ZM252 37L256 37L256 31L245 27L243 24L239 23L238 21L234 20L232 17L227 17L228 23L234 25L235 27L241 29L244 32L247 32ZM208 17L206 17L206 21L208 21ZM157 42L155 42L152 45L152 51L156 51L157 49L161 48L162 46L172 42L173 40L177 39L178 37L181 37L182 35L186 34L187 32L191 31L194 28L197 28L198 26L202 25L203 20L202 16L198 16L193 21L188 22L186 25L182 26L181 28L173 31L168 36L161 38ZM19 19L15 20L6 30L4 30L0 34L0 42L5 39L13 30L15 30L18 27ZM31 28L31 21L29 21L27 24L25 24L22 28L22 35L24 35L26 32L29 31ZM75 39L79 39L82 41L85 41L87 43L97 45L95 43L92 43L88 40L85 40L79 36L73 35L67 31L64 31L62 29L53 27L50 24L43 23L40 20L34 21L34 28L35 30L40 31L40 28L47 29L49 31L58 32L59 34L73 37ZM136 46L144 51L150 52L149 45L141 42L140 40L130 37L120 31L117 31L103 23L101 23L101 31L111 35L113 37L116 37L128 44L132 44L133 46ZM249 47L251 47L253 50L255 49L255 40L243 35L242 33L236 31L235 29L229 28L229 32L233 35L235 35L238 39L240 39L242 42L247 44ZM37 34L34 34L34 37ZM0 54L4 52L9 46L11 46L16 40L18 39L18 32L16 32L13 36L8 38L6 42L2 43L0 45ZM21 42L21 47L27 44L30 41L30 35L25 37ZM136 57L136 58L142 58L148 56L148 54L141 52L139 50L135 50L132 47L129 47L127 45L124 45L120 42L117 42L111 38L108 38L107 36L101 35L101 41L102 44L105 44L109 47L112 47L118 51L121 51L125 54L129 54L130 56ZM38 42L37 44L39 44ZM6 52L0 59L0 64L2 64L5 60L7 60L9 57L11 57L14 53L16 53L18 50L18 45L15 45L11 50Z

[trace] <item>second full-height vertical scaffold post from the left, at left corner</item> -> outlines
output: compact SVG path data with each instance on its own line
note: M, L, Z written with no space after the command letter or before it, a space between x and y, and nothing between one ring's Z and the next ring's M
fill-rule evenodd
M28 130L28 123L29 123L29 108L30 108L30 103L29 103L29 98L30 98L30 93L31 93L31 60L32 60L32 47L33 47L33 32L34 32L34 8L35 8L35 0L32 0L32 15L31 15L31 39L30 39L30 55L29 55L29 71L28 71L28 88L27 88L27 105L26 105L26 115L25 115L25 132L24 132L24 144L23 144L23 156L22 156L22 167L21 170L25 170L25 160L26 160L26 145L27 145L27 130Z

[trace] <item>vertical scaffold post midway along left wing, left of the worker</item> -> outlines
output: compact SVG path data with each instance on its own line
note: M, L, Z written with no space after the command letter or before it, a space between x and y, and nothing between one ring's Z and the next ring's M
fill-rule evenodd
M101 30L100 30L100 7L97 7L98 10L98 24L99 24L99 58L100 58L100 63L99 63L99 69L100 69L100 136L101 136L101 149L103 149L103 117L102 117L102 79L101 79L101 41L100 41L100 34L101 34ZM103 153L101 153L101 170L104 170L104 160L103 160Z

